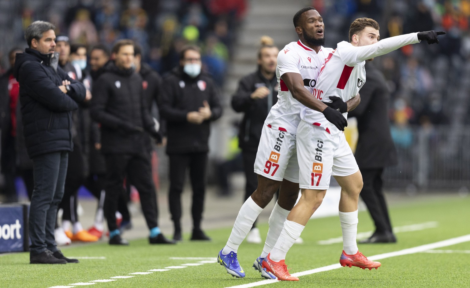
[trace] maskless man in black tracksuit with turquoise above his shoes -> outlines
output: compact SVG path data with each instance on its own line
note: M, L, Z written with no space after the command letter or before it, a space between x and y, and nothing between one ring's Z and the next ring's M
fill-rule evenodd
M91 115L101 123L102 153L107 168L104 213L110 230L110 244L127 245L116 224L118 196L123 193L127 176L137 188L147 226L149 242L173 243L167 240L157 223L157 196L152 182L149 153L144 146L147 131L160 140L155 123L145 107L142 78L133 69L134 42L119 40L112 50L114 61L93 86Z

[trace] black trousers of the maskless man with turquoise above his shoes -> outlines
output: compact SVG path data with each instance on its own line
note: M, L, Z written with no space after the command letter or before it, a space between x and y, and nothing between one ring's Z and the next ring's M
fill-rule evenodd
M118 229L116 211L118 198L125 193L124 178L135 186L141 198L142 211L147 227L157 227L157 195L152 181L150 155L141 154L106 154L106 196L104 198L104 216L110 231Z

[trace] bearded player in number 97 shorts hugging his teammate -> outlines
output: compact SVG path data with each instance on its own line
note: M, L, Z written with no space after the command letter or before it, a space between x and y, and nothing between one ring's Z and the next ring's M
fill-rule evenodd
M269 217L265 247L253 264L263 277L275 279L273 274L266 273L266 270L261 268L261 262L274 247L281 233L282 223L298 197L296 133L301 108L305 105L321 111L319 113L324 114L338 130L343 130L347 124L339 111L315 99L312 94L320 68L332 51L322 46L322 17L315 8L306 7L298 11L293 20L299 41L286 45L278 54L278 101L266 118L254 167L255 173L258 174L258 188L242 205L227 245L218 255L219 264L226 268L227 273L238 278L245 276L237 259L238 247L250 231L254 220L280 188L279 199ZM341 100L336 102L341 102L351 109L359 104L357 99L348 104Z

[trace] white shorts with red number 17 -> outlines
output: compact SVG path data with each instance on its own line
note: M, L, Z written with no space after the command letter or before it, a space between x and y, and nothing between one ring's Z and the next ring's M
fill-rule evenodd
M333 176L359 170L345 134L329 134L324 128L300 121L297 129L299 187L325 190Z

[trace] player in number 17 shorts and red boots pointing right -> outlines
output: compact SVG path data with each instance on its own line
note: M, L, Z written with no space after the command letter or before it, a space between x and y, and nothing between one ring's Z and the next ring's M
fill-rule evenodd
M399 47L427 40L439 43L438 35L445 32L427 31L395 36L378 42L379 25L370 18L356 19L349 30L350 43L338 43L323 64L313 96L327 100L338 96L347 101L356 95L366 81L364 64ZM347 117L347 112L343 114ZM302 196L284 222L281 235L274 248L266 256L262 267L280 280L298 280L287 272L285 257L300 236L313 212L321 205L333 175L341 186L339 219L343 232L342 266L362 269L378 268L380 262L368 260L356 244L358 223L358 199L362 189L362 176L345 140L344 133L326 119L323 114L309 107L302 108L302 121L297 128L299 162L299 186Z

